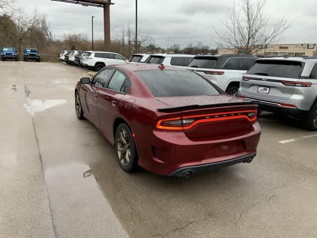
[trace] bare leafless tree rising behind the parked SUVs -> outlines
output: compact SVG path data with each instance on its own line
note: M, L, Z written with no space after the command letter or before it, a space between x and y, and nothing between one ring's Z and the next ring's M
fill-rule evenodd
M265 16L266 0L241 0L228 9L221 20L224 31L214 29L216 43L221 48L235 49L236 53L255 54L282 39L282 33L290 28L285 18L272 22Z

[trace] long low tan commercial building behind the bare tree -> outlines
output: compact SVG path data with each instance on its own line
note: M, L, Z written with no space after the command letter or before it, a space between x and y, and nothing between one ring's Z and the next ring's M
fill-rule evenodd
M218 49L219 55L243 53L243 49ZM275 44L258 51L255 55L264 56L314 56L317 57L317 44Z

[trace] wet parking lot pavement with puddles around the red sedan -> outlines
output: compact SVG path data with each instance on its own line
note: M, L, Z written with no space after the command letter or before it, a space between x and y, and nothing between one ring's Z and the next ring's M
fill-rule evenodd
M190 179L123 172L78 120L88 71L0 62L0 238L317 237L317 132L264 113L258 155Z

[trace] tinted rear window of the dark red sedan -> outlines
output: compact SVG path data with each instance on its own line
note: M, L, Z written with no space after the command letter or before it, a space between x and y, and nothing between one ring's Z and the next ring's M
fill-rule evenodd
M192 71L136 71L155 97L219 95L211 83Z

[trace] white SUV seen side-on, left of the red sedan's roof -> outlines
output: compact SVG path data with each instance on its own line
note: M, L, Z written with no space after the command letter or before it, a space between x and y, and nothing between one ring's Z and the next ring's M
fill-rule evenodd
M87 68L92 68L95 71L101 70L103 67L111 64L126 63L126 59L117 53L112 52L87 52L83 56L82 65Z

